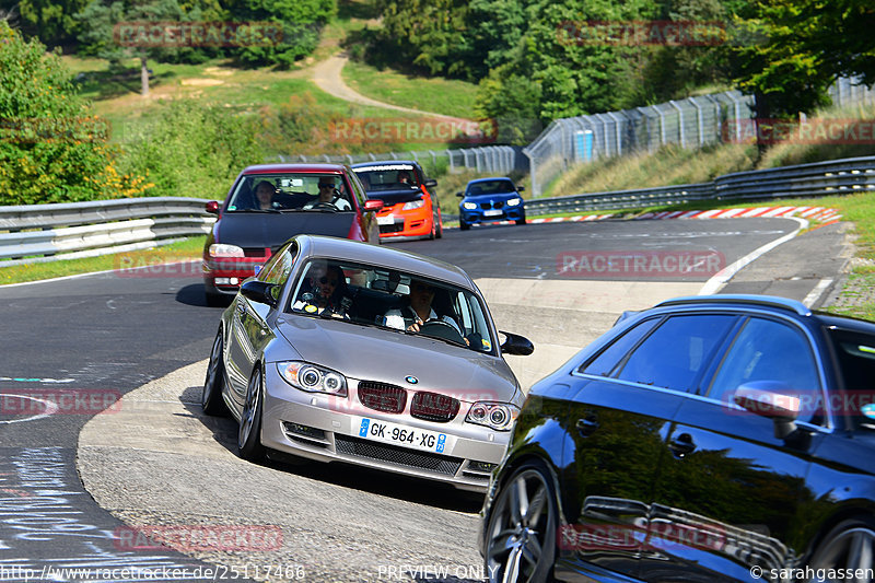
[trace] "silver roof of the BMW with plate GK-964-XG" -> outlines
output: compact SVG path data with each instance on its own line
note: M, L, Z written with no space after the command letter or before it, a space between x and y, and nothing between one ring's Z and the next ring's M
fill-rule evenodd
M408 271L438 281L475 290L474 281L462 268L417 253L323 235L294 237L302 255L345 259Z

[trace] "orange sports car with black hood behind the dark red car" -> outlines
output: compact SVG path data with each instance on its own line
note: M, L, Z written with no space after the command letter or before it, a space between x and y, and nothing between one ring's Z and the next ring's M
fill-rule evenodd
M422 166L412 161L384 161L353 164L352 171L364 185L369 199L383 201L377 215L380 238L435 238L443 235L441 208L429 188L438 182L427 179Z

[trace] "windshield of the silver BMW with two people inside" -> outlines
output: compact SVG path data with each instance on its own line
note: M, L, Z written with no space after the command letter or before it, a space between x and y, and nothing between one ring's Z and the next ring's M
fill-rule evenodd
M294 283L289 312L421 334L494 352L479 298L463 288L377 266L312 259Z

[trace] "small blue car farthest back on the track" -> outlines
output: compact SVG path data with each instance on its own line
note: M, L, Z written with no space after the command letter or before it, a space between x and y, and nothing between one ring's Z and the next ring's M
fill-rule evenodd
M526 209L516 186L510 178L479 178L465 187L458 205L458 225L463 231L471 224L491 221L516 221L526 224Z

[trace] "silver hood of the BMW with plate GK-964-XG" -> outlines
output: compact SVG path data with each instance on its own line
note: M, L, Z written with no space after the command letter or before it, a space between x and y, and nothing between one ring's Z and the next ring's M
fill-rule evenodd
M463 401L512 401L518 383L503 359L349 322L284 314L280 334L302 360L360 381L452 395ZM416 376L418 383L406 378Z

